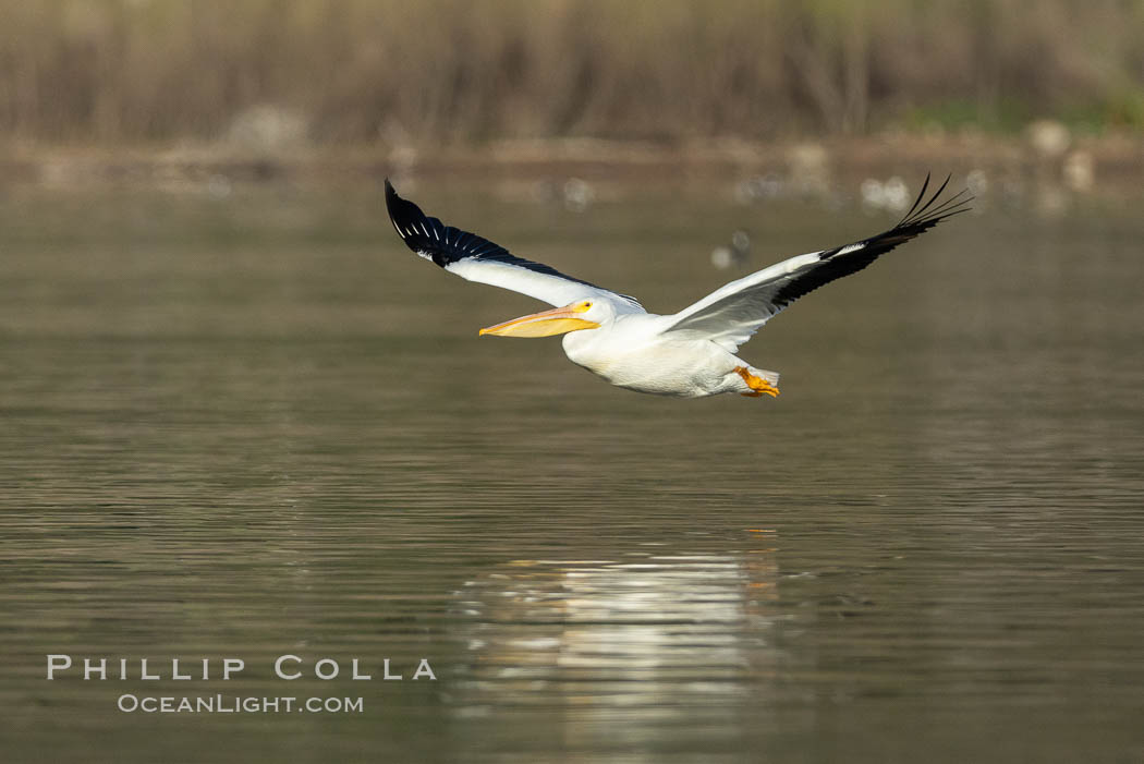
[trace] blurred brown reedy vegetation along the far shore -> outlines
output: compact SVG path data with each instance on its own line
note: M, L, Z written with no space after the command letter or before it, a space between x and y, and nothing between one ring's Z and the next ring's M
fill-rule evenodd
M0 0L0 140L241 141L267 105L317 146L1136 133L1142 30L1144 0Z

